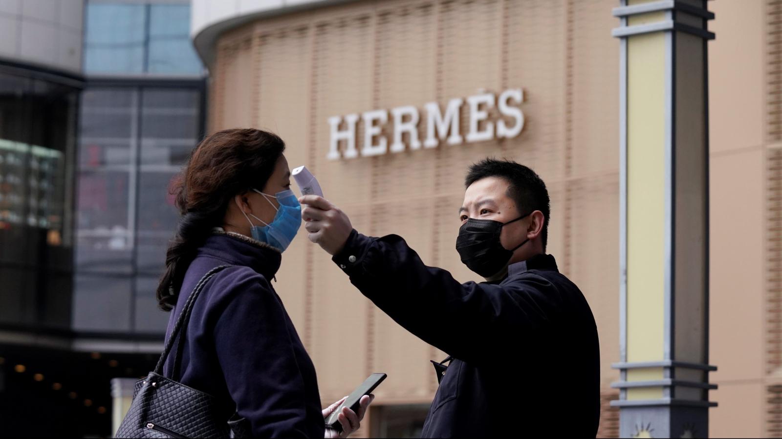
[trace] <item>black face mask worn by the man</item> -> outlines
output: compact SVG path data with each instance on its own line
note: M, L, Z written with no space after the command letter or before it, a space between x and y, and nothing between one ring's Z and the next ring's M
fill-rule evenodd
M504 248L500 243L502 227L530 215L532 212L512 219L508 223L500 223L493 219L468 219L459 227L459 236L456 238L456 251L459 252L461 262L482 277L491 277L500 273L500 270L508 265L513 252L529 241L529 239L522 241L513 250Z

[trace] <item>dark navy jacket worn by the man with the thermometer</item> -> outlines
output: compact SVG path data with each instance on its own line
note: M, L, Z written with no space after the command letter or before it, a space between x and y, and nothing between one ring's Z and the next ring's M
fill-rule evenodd
M353 230L334 262L396 323L454 357L423 437L597 434L597 327L553 256L512 264L499 282L460 284L401 237Z

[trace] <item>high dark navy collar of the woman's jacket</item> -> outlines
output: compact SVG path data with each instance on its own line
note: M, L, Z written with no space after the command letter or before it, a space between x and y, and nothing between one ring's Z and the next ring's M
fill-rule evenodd
M267 280L274 277L282 263L282 253L277 248L251 237L217 228L206 238L198 255L221 259L231 265L249 266Z

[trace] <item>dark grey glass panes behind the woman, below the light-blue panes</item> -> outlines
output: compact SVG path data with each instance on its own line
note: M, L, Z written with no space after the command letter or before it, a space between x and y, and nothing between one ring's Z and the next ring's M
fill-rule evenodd
M74 329L164 332L154 292L178 218L170 184L202 134L202 84L84 91Z

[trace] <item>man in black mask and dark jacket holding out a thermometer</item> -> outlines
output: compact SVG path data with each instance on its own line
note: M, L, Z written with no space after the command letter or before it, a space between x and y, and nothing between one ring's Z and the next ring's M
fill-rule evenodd
M436 363L442 380L424 437L595 437L597 327L581 291L545 253L545 184L526 166L485 159L469 168L465 187L456 249L486 278L479 284L425 266L399 236L359 234L323 198L300 198L302 217L310 241L361 293L450 355Z

